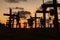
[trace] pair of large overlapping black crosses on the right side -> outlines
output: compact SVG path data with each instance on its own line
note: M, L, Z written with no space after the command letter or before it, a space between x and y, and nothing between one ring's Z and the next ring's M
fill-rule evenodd
M43 0L44 2L44 0ZM54 9L50 10L50 13L54 13L54 22L55 22L55 27L58 28L58 12L57 12L57 7L60 7L60 3L57 3L57 0L53 0L52 4L44 4L42 5L42 11L37 10L36 13L43 13L43 18L44 18L44 28L46 27L46 13L49 13L46 11L47 8L53 7Z

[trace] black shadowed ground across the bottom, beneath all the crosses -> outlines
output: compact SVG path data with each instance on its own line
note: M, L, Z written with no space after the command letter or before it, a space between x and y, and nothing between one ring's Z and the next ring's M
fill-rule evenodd
M0 29L0 40L60 40L54 29Z

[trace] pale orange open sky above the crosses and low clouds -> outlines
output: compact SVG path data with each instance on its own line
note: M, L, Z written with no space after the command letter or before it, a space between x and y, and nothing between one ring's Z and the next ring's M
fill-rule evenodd
M49 0L45 0L45 2L46 1ZM30 11L32 13L32 16L34 16L36 9L39 8L41 4L42 4L42 0L27 0L27 1L17 0L17 2L15 2L14 0L13 2L0 0L0 20L2 23L5 23L8 17L4 16L3 14L9 13L9 8L14 8L14 7L22 7L26 11Z

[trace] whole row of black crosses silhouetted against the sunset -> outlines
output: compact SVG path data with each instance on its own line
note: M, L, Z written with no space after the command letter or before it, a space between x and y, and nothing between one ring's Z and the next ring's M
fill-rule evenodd
M58 29L58 12L57 12L57 7L60 7L60 3L57 3L57 0L53 0L53 3L52 4L45 4L44 3L44 0L43 0L43 4L41 5L42 6L42 11L40 11L40 10L36 10L36 13L43 13L43 26L44 26L44 28L46 27L46 13L53 13L53 15L54 15L54 27L55 28L57 28ZM47 10L47 8L50 8L50 7L53 7L53 9L51 9L50 11L46 11ZM36 19L38 18L38 17L36 17L36 13L35 13L35 27L36 27ZM4 15L6 15L6 16L9 16L9 27L12 27L11 26L11 22L12 22L12 17L13 16L17 16L15 19L17 20L17 26L19 25L20 26L20 23L19 23L19 14L18 15L12 15L12 9L10 8L10 14L4 14ZM30 23L31 22L31 23ZM32 24L33 24L33 19L32 19L32 17L30 17L30 22L28 22L28 23L30 23L30 26L31 26L31 28L32 28ZM24 23L24 24L26 24L26 23Z

